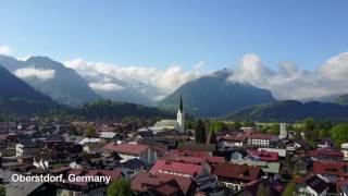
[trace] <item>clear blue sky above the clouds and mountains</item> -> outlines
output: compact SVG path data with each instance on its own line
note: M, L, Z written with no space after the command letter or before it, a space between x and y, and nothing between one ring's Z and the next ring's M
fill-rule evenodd
M13 56L204 70L257 53L314 70L348 50L344 0L2 0L0 46Z

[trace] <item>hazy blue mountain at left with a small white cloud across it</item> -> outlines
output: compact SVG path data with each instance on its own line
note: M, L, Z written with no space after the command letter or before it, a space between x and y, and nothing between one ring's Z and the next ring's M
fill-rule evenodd
M1 56L0 63L57 102L75 107L100 98L74 70L49 58L30 57L17 61Z

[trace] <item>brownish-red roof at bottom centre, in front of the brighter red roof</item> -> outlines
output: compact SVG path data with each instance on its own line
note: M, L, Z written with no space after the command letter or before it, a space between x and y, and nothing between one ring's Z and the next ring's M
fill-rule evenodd
M133 181L132 181L132 189L137 192L146 192L146 186L144 185L154 185L159 186L164 182L169 182L171 180L175 180L183 191L186 194L189 187L194 184L194 181L188 177L178 176L178 175L171 175L165 173L139 173Z

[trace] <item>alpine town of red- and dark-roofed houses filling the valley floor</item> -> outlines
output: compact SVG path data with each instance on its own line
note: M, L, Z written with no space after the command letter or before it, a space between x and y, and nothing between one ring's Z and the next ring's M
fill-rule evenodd
M176 120L148 126L136 121L1 122L1 186L7 195L60 196L348 193L348 140L338 139L337 146L327 122L315 134L311 119L296 127L187 122L181 98ZM42 174L63 181L13 181L13 175ZM72 181L72 175L110 182Z

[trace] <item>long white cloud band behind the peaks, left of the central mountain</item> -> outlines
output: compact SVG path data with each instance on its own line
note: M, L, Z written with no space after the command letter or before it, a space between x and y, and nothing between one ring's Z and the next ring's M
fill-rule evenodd
M67 68L76 70L84 77L111 76L119 79L135 79L158 87L166 94L172 93L184 83L202 75L199 70L184 71L172 64L165 70L148 66L121 66L103 62L86 62L82 59L66 61Z

